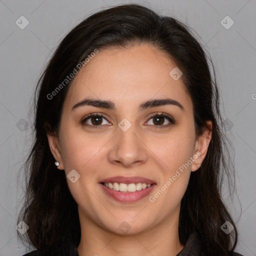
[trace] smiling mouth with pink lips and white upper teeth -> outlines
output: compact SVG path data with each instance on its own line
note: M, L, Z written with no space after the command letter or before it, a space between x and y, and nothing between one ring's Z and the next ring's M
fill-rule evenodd
M112 177L101 180L99 185L106 195L120 202L135 202L147 196L156 186L142 177Z

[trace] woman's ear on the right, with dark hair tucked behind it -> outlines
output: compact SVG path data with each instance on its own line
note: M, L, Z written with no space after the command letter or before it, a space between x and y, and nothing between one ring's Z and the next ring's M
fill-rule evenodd
M204 128L203 134L199 135L196 139L194 145L194 161L191 166L191 171L195 171L198 168L196 166L200 166L204 157L206 156L208 145L211 140L211 129L212 129L212 122L210 120L206 121L206 127ZM199 152L198 152L199 151ZM197 164L194 164L196 162Z

